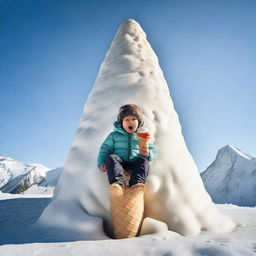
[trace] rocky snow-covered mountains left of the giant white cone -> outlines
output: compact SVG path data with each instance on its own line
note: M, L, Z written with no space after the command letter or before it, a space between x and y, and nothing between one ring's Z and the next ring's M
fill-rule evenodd
M0 190L4 193L43 193L46 187L54 188L62 168L50 169L42 164L23 163L0 156ZM31 191L31 187L33 190ZM47 189L53 192L53 189Z

